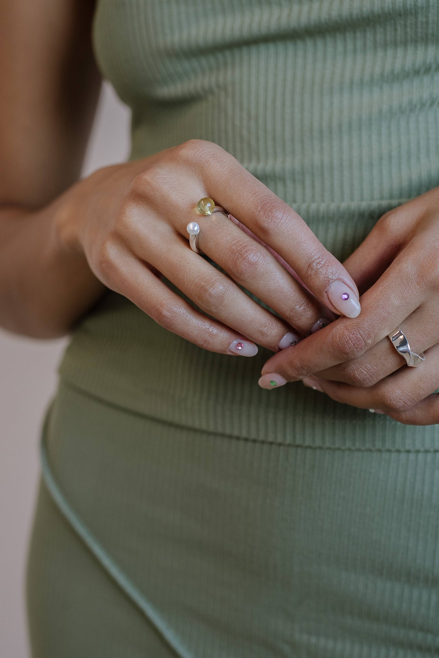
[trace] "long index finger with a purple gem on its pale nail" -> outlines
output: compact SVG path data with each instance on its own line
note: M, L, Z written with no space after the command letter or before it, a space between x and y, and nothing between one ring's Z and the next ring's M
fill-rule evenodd
M357 286L344 266L290 206L230 153L194 139L180 147L180 157L187 167L201 170L207 195L272 247L324 306L341 315L359 315ZM195 221L197 200L192 206Z

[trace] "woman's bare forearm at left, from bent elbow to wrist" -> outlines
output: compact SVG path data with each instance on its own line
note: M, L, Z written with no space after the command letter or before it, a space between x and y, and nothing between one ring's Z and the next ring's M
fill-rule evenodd
M34 338L66 334L105 290L59 239L58 203L0 209L0 326Z

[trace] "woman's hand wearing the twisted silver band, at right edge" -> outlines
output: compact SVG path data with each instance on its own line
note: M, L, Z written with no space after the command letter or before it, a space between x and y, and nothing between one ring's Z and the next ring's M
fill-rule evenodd
M439 422L439 188L386 213L344 263L359 287L361 317L339 318L263 367L261 386L304 379L336 401L400 422ZM425 362L409 368L394 329ZM313 375L312 377L307 377Z

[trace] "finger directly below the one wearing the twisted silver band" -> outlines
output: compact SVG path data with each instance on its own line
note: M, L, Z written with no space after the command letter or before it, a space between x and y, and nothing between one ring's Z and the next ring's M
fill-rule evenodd
M417 368L405 366L371 388L355 388L315 377L303 383L353 407L377 409L390 415L407 413L439 386L439 345L426 351L425 362Z

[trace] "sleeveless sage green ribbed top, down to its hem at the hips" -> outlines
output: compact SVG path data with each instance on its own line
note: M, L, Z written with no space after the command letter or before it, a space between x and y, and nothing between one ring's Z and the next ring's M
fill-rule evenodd
M93 36L132 108L132 159L214 141L344 259L382 213L439 182L438 22L436 0L100 0ZM236 436L438 438L300 383L270 395L257 386L268 357L203 351L109 293L61 375L132 411Z

